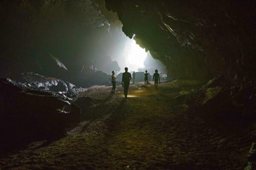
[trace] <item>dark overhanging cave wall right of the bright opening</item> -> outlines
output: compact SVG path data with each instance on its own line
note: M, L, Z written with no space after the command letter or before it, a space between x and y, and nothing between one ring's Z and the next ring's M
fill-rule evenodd
M105 0L128 37L174 77L255 78L256 1Z

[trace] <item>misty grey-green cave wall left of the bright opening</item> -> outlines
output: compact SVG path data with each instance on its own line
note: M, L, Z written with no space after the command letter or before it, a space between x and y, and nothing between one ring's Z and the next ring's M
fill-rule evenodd
M101 57L122 53L112 49L125 46L122 24L104 0L2 0L0 20L0 77L77 73ZM52 56L67 71L53 69Z

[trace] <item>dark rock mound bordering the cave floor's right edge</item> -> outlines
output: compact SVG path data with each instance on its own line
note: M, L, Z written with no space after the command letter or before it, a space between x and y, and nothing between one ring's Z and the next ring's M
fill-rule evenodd
M231 121L236 126L243 120L256 120L256 82L253 81L230 85L219 76L198 90L176 99L189 105L192 113L211 123Z

